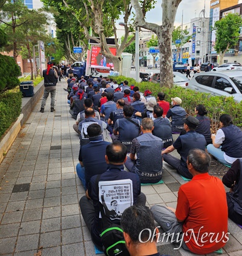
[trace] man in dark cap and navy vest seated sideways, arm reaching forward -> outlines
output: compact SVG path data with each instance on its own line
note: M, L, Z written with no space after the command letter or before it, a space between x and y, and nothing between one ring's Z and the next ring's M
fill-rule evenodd
M189 172L186 164L188 152L190 149L195 148L205 150L207 143L203 135L195 132L195 129L199 124L197 118L188 116L187 118L183 118L182 121L184 123L183 127L186 130L186 134L178 136L173 145L162 151L162 155L163 160L177 170L181 176L192 179L192 174ZM169 154L175 149L177 149L177 152L181 156L180 160Z

